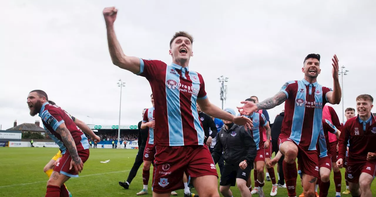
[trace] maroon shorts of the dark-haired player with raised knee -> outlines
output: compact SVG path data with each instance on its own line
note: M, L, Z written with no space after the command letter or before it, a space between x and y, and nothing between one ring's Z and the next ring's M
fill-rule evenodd
M297 145L290 138L278 138L278 147L285 141L291 141L298 147L298 168L303 174L319 177L318 173L318 154L317 150L306 150L305 148Z

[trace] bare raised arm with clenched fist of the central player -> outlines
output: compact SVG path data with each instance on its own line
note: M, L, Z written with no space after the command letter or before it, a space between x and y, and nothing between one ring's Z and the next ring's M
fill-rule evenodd
M110 51L110 56L112 63L114 65L126 69L134 74L140 72L140 59L137 57L126 56L123 53L123 50L120 47L119 41L116 38L114 30L114 22L116 20L117 9L114 7L105 8L103 10L103 16L106 21L107 28L107 42L108 49Z

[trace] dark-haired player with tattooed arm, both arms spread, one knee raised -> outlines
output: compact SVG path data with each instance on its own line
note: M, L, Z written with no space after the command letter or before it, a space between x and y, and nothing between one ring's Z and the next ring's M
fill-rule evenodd
M334 91L317 83L320 74L320 55L309 54L304 59L302 72L304 79L288 81L272 98L254 104L238 107L241 114L249 115L258 109L271 109L285 102L285 118L279 135L279 150L285 156L284 175L289 197L296 196L296 158L303 173L303 191L305 197L315 196L315 183L318 177L317 138L322 125L322 108L329 102L341 101L341 87L338 82L338 59L332 59Z

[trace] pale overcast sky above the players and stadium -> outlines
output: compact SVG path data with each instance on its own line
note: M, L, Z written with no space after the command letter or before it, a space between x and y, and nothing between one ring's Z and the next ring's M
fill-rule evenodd
M119 79L126 83L121 124L141 120L141 110L151 107L151 88L145 78L112 65L102 15L108 6L118 8L115 31L130 56L170 64L174 32L191 33L190 69L203 75L209 100L218 106L221 75L229 78L224 107L236 110L252 95L261 101L286 81L302 79L309 53L321 55L318 82L323 86L333 87L334 54L349 70L343 80L345 108L355 108L359 94L376 97L375 1L2 1L2 129L14 120L40 119L29 115L26 104L33 89L44 90L86 123L117 125ZM342 121L342 103L333 107ZM283 108L268 110L271 122Z

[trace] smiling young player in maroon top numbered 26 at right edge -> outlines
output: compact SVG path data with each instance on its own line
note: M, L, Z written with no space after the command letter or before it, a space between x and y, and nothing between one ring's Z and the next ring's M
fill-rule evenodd
M347 181L352 196L372 196L371 183L376 175L376 119L372 107L371 95L356 97L358 116L347 120L338 143L337 165L341 168L350 139Z

